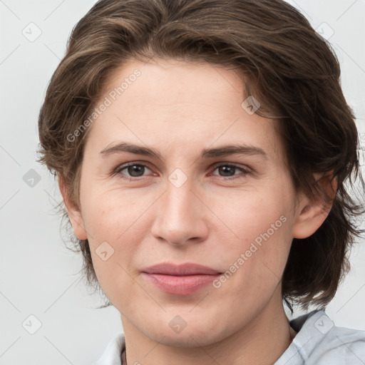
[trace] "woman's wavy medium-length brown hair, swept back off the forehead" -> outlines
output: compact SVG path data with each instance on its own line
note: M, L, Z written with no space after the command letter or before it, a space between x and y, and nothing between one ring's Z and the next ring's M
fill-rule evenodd
M281 0L98 1L73 29L38 120L39 161L63 179L76 206L91 128L77 136L74 131L93 113L113 71L131 58L152 57L239 71L246 96L262 105L257 113L271 113L279 123L296 191L331 202L313 173L336 180L327 219L310 237L293 240L282 277L282 297L291 310L292 304L327 305L349 270L349 249L363 232L353 220L362 206L349 189L356 178L364 187L354 114L329 43ZM98 287L88 241L75 238L88 284Z

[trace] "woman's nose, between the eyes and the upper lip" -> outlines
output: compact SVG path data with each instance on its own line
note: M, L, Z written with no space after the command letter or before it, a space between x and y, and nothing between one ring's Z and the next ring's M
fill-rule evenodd
M206 240L209 210L199 195L189 179L180 187L168 181L165 193L156 202L152 235L175 246Z

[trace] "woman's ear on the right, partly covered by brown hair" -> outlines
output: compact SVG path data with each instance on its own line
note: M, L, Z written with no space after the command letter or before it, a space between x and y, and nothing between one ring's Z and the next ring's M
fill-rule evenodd
M314 178L319 180L322 175L314 174ZM332 202L336 196L337 183L336 180L330 182L329 178L323 178L320 182L327 194L332 197L331 203L324 205L322 201L309 200L308 197L303 196L297 207L297 214L293 225L292 235L294 238L307 238L316 232L321 227L324 220L332 207Z

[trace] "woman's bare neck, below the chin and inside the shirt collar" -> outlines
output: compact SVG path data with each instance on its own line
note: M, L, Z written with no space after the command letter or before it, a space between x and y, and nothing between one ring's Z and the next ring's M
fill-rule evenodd
M289 326L281 297L279 305L273 303L273 300L269 302L239 331L207 346L200 346L198 341L195 341L196 346L188 347L168 346L163 344L163 339L153 341L123 316L127 363L272 365L296 334Z

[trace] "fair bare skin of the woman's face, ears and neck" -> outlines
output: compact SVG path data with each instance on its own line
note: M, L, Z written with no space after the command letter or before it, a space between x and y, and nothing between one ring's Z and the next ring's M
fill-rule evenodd
M292 239L312 235L328 209L296 197L277 122L241 107L244 86L235 71L130 60L113 73L100 100L136 68L141 75L93 122L80 208L59 180L73 231L88 239L98 282L120 312L128 364L273 364L295 335L281 297ZM118 141L154 148L161 158L100 155ZM235 143L262 148L267 158L200 158L204 148ZM134 162L146 168L114 173ZM228 174L216 166L227 163L237 168ZM168 179L176 168L187 177L181 187ZM166 294L140 272L165 261L226 272L282 215L282 226L219 288ZM103 261L96 249L105 241L114 253ZM180 333L169 326L177 315L186 323Z

